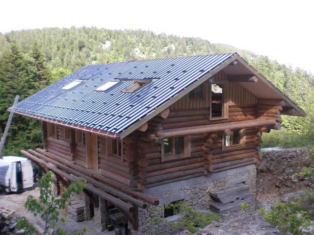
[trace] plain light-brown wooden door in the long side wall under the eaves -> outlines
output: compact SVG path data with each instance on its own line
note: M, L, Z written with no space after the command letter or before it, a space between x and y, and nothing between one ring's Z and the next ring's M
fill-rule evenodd
M98 144L95 134L86 133L87 168L98 171Z

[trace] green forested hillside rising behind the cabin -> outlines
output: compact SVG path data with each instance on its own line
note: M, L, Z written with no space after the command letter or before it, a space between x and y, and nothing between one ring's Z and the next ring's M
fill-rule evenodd
M308 113L306 118L283 116L284 128L274 133L276 138L269 134L265 143L312 144L309 140L314 139L314 80L307 71L200 38L87 27L0 33L0 132L15 94L23 99L86 64L226 52L238 52ZM3 154L16 154L19 149L35 147L40 142L39 122L16 115Z

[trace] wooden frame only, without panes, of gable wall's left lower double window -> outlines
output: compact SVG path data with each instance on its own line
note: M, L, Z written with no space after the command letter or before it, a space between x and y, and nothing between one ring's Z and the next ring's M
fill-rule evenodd
M182 154L175 154L175 148L176 148L176 138L183 137L183 153ZM164 139L170 139L172 138L172 155L171 156L165 156L164 155ZM190 136L177 136L177 137L169 137L161 139L161 162L171 161L175 159L181 159L181 158L188 158L191 156L191 138Z

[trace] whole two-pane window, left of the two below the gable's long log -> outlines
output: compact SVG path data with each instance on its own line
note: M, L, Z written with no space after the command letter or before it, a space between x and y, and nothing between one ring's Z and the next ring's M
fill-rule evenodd
M190 138L170 137L162 139L161 161L168 161L177 158L186 158L190 155Z

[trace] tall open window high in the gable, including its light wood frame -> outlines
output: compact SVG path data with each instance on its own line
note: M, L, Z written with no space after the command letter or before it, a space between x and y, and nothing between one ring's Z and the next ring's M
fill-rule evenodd
M210 120L228 118L228 83L210 84Z

